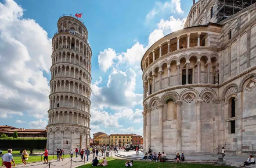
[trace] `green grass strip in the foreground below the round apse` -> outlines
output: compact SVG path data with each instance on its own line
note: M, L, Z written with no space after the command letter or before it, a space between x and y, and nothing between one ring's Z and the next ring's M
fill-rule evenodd
M108 161L107 168L124 168L126 160L116 158L106 158ZM100 160L101 162L102 160ZM218 165L202 165L202 164L184 164L184 163L167 163L167 162L155 162L155 161L133 161L133 167L137 168L230 168L228 166ZM91 164L83 165L78 168L91 168Z

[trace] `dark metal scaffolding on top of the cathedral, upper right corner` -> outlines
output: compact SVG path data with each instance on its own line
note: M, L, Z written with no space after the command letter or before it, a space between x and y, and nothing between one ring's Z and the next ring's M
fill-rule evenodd
M256 3L256 0L217 0L217 18L218 22L242 11L246 7Z

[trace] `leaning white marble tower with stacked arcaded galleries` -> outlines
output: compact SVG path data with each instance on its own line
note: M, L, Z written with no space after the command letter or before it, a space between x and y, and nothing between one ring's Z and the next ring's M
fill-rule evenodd
M71 150L90 146L91 56L83 21L65 14L52 38L47 148Z

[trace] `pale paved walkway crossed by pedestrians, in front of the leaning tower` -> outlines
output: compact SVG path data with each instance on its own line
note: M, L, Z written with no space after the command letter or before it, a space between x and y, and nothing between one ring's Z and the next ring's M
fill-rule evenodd
M123 153L123 151L119 151L119 153ZM114 156L115 153L112 152L112 155ZM104 154L103 154L104 156ZM109 153L109 156L111 157L111 152ZM98 159L102 159L103 157L97 156ZM87 159L86 159L87 160ZM89 161L81 161L80 156L78 156L78 158L76 158L76 155L73 156L72 158L72 165L70 164L71 162L71 158L64 158L63 161L57 161L55 160L50 160L50 168L76 168L79 167L81 165L83 165L84 163L91 163L91 161L93 160L93 154L89 155ZM40 161L40 162L36 162L36 163L28 163L26 167L29 168L49 168L49 164L43 164L44 161ZM71 167L72 166L72 167ZM22 168L24 167L24 165L16 165L16 168Z

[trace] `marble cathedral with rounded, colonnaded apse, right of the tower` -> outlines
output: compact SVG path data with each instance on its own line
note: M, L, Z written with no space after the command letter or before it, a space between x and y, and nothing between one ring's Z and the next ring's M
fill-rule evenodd
M145 52L146 151L256 144L256 0L243 2L198 0L183 29Z

